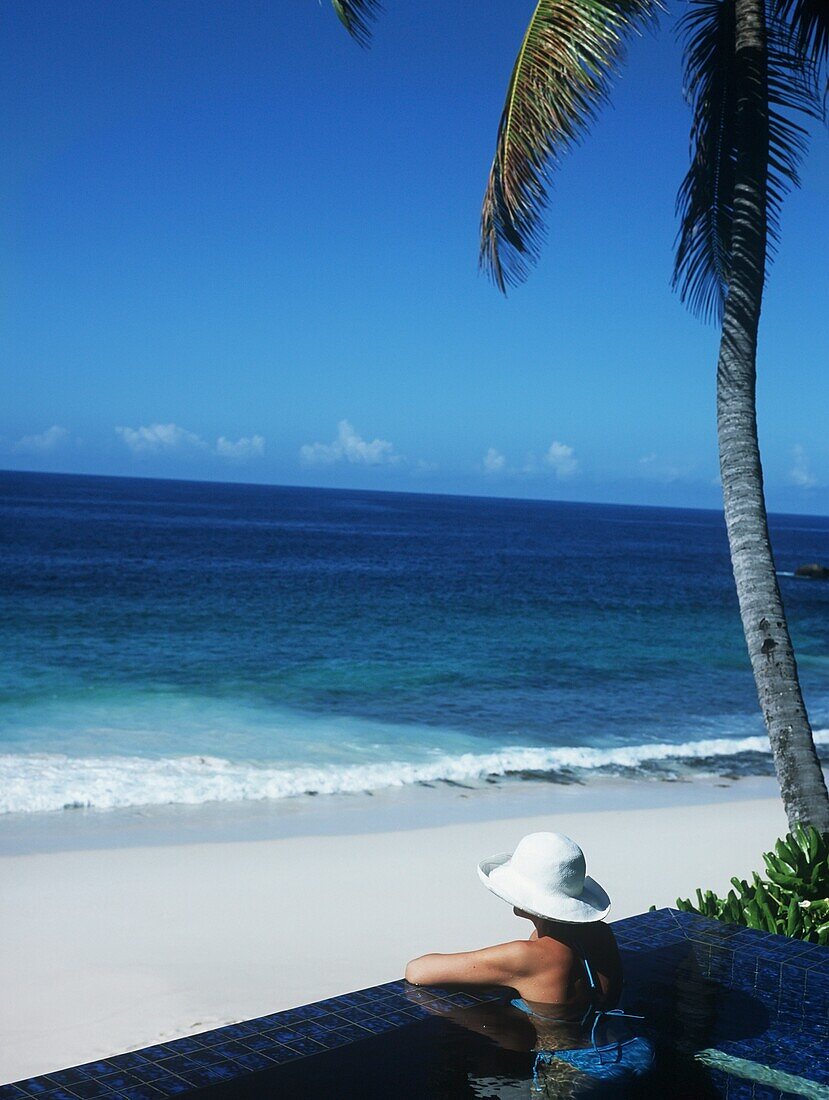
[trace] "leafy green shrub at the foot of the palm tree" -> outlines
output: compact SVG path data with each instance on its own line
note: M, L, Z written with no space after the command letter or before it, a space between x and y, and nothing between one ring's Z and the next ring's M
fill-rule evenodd
M729 924L774 932L829 946L829 842L814 826L797 825L763 856L765 878L731 879L733 890L718 898L697 890L696 904L676 899L676 908Z

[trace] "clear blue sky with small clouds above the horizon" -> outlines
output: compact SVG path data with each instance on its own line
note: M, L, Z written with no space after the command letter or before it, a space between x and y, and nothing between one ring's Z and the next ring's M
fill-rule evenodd
M532 4L386 7L362 51L327 0L5 0L0 466L719 505L673 16L505 300L477 218ZM828 136L761 332L775 510L829 510Z

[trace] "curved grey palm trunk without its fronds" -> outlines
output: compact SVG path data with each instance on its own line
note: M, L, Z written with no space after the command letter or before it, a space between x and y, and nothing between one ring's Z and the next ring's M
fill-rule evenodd
M766 257L769 161L764 0L732 0L739 79L731 273L717 366L726 526L745 641L789 825L829 833L829 795L797 679L769 540L755 364Z

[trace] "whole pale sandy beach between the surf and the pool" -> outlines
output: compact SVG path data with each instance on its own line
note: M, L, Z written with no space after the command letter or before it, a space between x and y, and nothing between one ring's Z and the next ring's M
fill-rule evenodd
M427 950L526 935L475 865L537 829L582 844L620 919L727 887L786 821L771 780L9 818L0 1082L388 981Z

